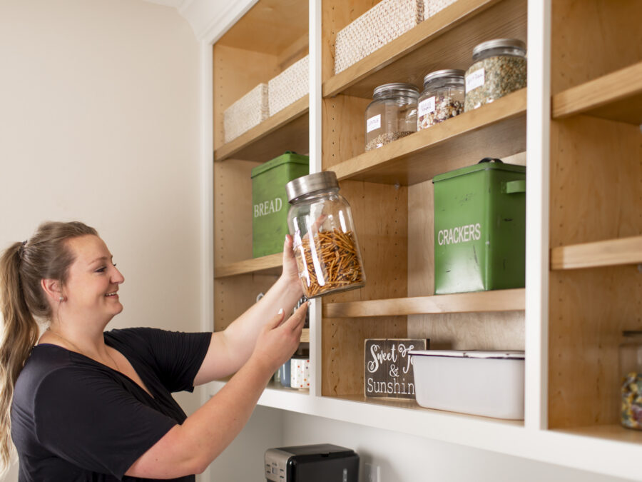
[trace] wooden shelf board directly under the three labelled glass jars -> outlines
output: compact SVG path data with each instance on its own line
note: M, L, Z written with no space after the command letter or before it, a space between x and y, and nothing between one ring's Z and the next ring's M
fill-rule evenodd
M526 151L526 89L331 166L337 178L409 186L484 156Z

